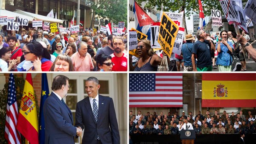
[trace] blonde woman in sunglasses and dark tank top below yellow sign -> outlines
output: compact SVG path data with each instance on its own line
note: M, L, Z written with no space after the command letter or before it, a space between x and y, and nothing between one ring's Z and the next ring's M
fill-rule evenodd
M162 58L153 52L150 40L140 40L136 49L140 58L137 63L135 63L135 66L133 66L131 55L129 55L130 71L157 71ZM163 53L163 55L166 54ZM170 63L169 58L167 58L167 62L168 64Z

